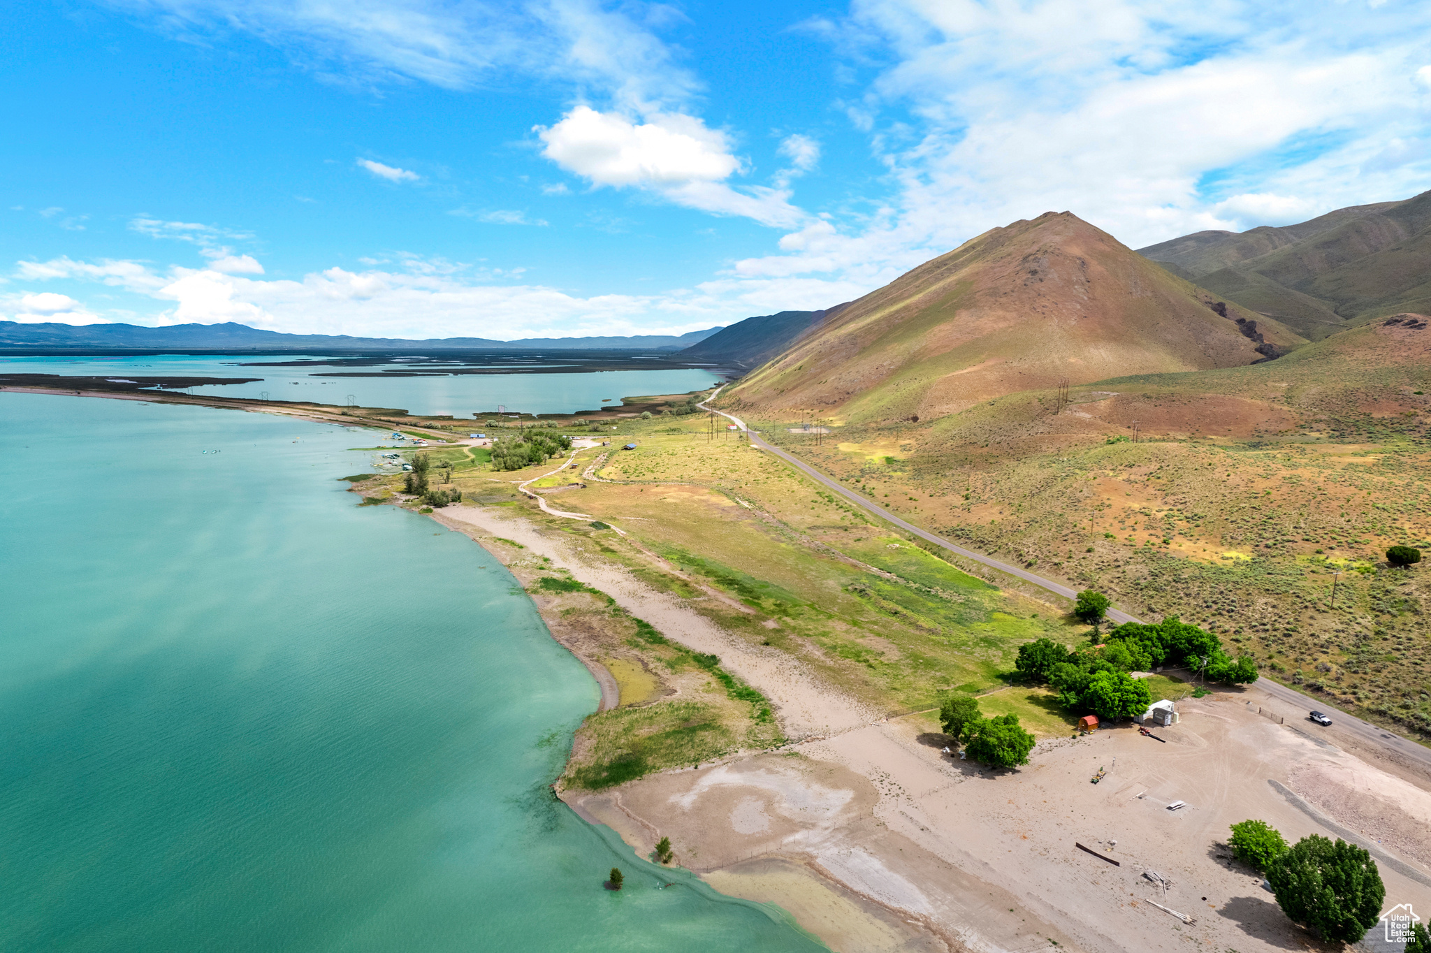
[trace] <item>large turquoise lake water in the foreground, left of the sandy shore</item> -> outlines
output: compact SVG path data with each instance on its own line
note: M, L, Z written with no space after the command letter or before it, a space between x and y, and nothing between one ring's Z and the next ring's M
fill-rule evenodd
M824 949L551 798L595 683L369 439L0 394L0 949Z

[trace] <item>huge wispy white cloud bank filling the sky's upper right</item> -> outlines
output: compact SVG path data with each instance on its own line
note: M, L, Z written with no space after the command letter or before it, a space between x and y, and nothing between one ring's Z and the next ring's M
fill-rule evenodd
M844 106L889 192L736 278L873 288L1046 210L1138 248L1407 197L1431 176L1427 7L854 0L807 26L851 66L886 64Z

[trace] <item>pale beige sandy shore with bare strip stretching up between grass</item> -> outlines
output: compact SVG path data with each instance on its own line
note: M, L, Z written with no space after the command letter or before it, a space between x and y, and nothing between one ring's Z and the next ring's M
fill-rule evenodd
M1185 703L1183 721L1162 731L1166 744L1130 728L1047 738L1020 771L986 771L943 756L930 715L880 718L796 660L733 638L691 604L578 552L521 509L449 507L434 518L487 538L507 564L525 552L568 571L768 694L798 740L790 748L601 793L568 790L562 800L638 854L668 836L675 863L723 893L781 906L834 950L1321 949L1252 871L1226 859L1228 824L1246 817L1289 839L1341 833L1318 816L1359 831L1415 874L1382 864L1388 906L1394 897L1431 904L1422 883L1431 883L1431 778L1259 717L1259 705L1276 703L1256 688ZM560 617L544 618L561 641ZM1090 786L1105 766L1109 777ZM1299 810L1279 786L1315 811ZM1173 800L1189 808L1169 813ZM1142 877L1148 869L1173 881L1166 897Z

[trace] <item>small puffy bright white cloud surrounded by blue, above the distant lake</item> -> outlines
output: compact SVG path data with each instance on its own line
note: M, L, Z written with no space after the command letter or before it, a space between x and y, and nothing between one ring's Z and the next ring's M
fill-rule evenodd
M545 157L597 187L638 187L677 205L773 226L807 218L786 200L784 190L753 186L741 192L726 185L743 163L731 153L726 133L694 116L651 113L637 122L577 106L555 126L538 126L537 133Z

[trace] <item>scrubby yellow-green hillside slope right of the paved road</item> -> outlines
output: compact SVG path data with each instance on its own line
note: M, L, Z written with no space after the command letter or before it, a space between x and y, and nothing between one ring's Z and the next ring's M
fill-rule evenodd
M1431 321L1405 316L1073 388L1062 412L1030 391L819 445L761 428L916 525L1215 628L1328 705L1431 738L1431 584L1382 555L1431 548L1428 395Z

